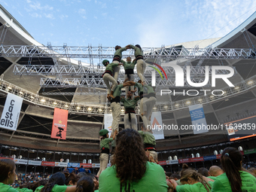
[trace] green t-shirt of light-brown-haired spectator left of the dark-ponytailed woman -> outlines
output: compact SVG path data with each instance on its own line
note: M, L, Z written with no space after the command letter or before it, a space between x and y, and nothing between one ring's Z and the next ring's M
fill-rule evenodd
M212 187L213 181L208 182L209 185ZM209 188L209 190L211 190ZM203 186L202 183L198 182L195 184L183 184L183 185L178 185L176 187L177 192L207 192L206 187Z

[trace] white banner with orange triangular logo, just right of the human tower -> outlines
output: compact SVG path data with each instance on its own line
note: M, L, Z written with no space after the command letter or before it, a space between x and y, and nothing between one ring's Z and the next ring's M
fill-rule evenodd
M156 140L164 139L163 129L162 114L160 111L154 111L151 114L151 130Z

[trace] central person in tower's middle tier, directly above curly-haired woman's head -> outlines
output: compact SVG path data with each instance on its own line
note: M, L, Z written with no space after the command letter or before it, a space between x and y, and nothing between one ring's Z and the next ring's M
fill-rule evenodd
M138 130L135 108L137 102L139 101L139 96L134 97L134 99L132 98L132 96L133 93L131 91L128 91L126 99L124 97L121 98L121 102L123 102L123 106L125 108L124 128Z

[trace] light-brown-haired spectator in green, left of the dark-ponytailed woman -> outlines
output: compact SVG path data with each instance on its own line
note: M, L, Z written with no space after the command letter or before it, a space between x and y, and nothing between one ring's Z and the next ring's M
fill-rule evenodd
M206 178L194 169L188 168L187 164L183 164L181 170L181 184L178 185L174 179L171 179L172 185L177 192L210 192L213 180Z

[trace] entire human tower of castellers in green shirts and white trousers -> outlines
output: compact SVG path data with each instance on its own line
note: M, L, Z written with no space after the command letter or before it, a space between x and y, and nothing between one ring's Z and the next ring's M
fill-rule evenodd
M122 52L127 49L134 50L135 59L132 59L130 56L126 58L126 62L122 59ZM110 63L107 59L103 60L102 64L105 66L105 72L102 75L103 81L108 87L108 101L111 102L111 111L113 121L111 124L111 137L108 138L108 130L100 130L99 135L102 137L100 142L101 154L99 157L100 169L98 176L103 170L107 168L108 165L108 155L109 155L109 142L112 142L112 153L115 148L115 136L119 130L120 122L120 102L123 102L125 108L124 114L124 128L137 130L137 118L136 118L136 105L140 100L140 113L143 120L142 131L139 133L142 135L145 141L145 150L148 151L148 156L157 161L157 152L156 152L156 142L154 136L151 132L150 127L151 123L151 114L156 103L156 94L154 93L153 87L145 83L145 69L146 63L143 59L142 47L139 44L133 46L132 44L126 45L126 47L120 47L117 45L115 47L115 53L113 61ZM125 70L125 79L123 84L118 84L117 78L120 71L120 66L123 66ZM140 80L134 82L134 68L136 66L137 75ZM111 83L111 85L110 85ZM121 89L125 87L126 97L121 97ZM136 89L134 88L136 87ZM138 96L134 96L134 93L138 89ZM143 129L144 127L144 129ZM143 131L145 130L145 131Z

